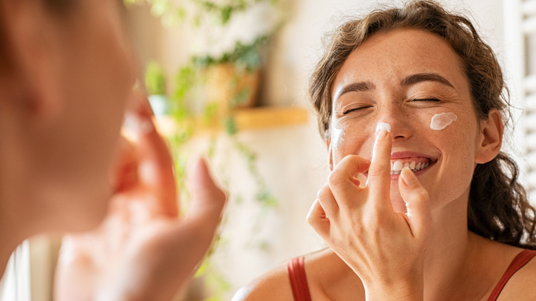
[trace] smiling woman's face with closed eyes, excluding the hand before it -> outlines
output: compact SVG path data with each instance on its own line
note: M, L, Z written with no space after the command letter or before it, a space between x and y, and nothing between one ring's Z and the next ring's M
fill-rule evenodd
M412 29L375 34L348 56L331 96L333 165L346 155L370 159L377 124L387 122L394 169L409 164L415 170L432 208L455 199L467 202L480 131L462 61L447 41ZM457 119L445 129L431 129L432 118L441 113ZM399 175L392 173L392 205L404 212Z

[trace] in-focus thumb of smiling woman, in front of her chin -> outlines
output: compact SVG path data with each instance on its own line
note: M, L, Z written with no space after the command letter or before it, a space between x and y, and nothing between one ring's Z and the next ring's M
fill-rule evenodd
M399 190L407 208L407 219L414 236L423 237L432 225L429 195L410 168L403 168Z

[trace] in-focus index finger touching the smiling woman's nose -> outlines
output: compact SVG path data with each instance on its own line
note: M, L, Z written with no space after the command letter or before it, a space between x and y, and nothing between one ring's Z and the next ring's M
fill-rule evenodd
M389 205L391 187L391 135L381 129L376 135L372 159L368 169L367 187L378 205Z

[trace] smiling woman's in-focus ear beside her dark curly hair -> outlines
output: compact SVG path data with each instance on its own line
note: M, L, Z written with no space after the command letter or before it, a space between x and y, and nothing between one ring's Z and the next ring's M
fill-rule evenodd
M488 119L480 121L480 137L475 155L475 163L485 164L499 153L502 145L502 120L499 111L489 110Z

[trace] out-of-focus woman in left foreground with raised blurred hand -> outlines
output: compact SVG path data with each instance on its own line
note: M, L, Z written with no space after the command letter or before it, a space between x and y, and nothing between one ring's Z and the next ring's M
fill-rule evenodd
M0 271L32 235L79 232L63 245L54 300L170 300L225 203L199 161L179 219L166 143L131 95L121 10L0 0ZM118 151L127 107L136 141Z

